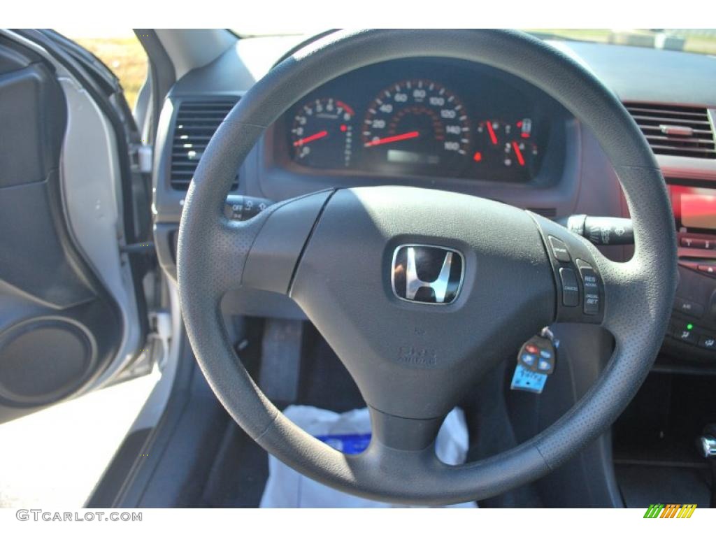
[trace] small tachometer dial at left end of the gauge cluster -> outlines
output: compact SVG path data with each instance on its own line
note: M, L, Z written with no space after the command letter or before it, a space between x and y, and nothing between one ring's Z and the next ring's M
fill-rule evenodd
M354 113L332 97L301 104L291 128L294 159L312 168L347 168L353 154Z

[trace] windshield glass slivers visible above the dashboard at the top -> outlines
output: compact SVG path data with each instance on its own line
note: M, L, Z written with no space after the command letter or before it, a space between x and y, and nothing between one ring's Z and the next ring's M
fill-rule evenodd
M541 39L630 45L716 55L716 29L525 29ZM235 28L240 37L316 34L317 29Z

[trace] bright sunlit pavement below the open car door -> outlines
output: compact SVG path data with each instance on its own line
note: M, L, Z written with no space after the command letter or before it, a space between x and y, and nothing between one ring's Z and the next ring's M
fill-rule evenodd
M0 425L0 507L80 508L160 375Z

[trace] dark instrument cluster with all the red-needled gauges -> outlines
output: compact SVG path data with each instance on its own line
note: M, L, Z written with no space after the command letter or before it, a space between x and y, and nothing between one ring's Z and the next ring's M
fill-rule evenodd
M538 183L545 156L563 151L564 117L546 94L490 67L405 59L324 84L274 136L284 164L309 173Z

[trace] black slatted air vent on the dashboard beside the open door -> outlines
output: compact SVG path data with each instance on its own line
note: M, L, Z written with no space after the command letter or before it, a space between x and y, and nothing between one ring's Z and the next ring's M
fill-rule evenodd
M185 100L180 103L172 140L171 185L187 190L201 155L236 99ZM238 177L231 190L238 187Z

